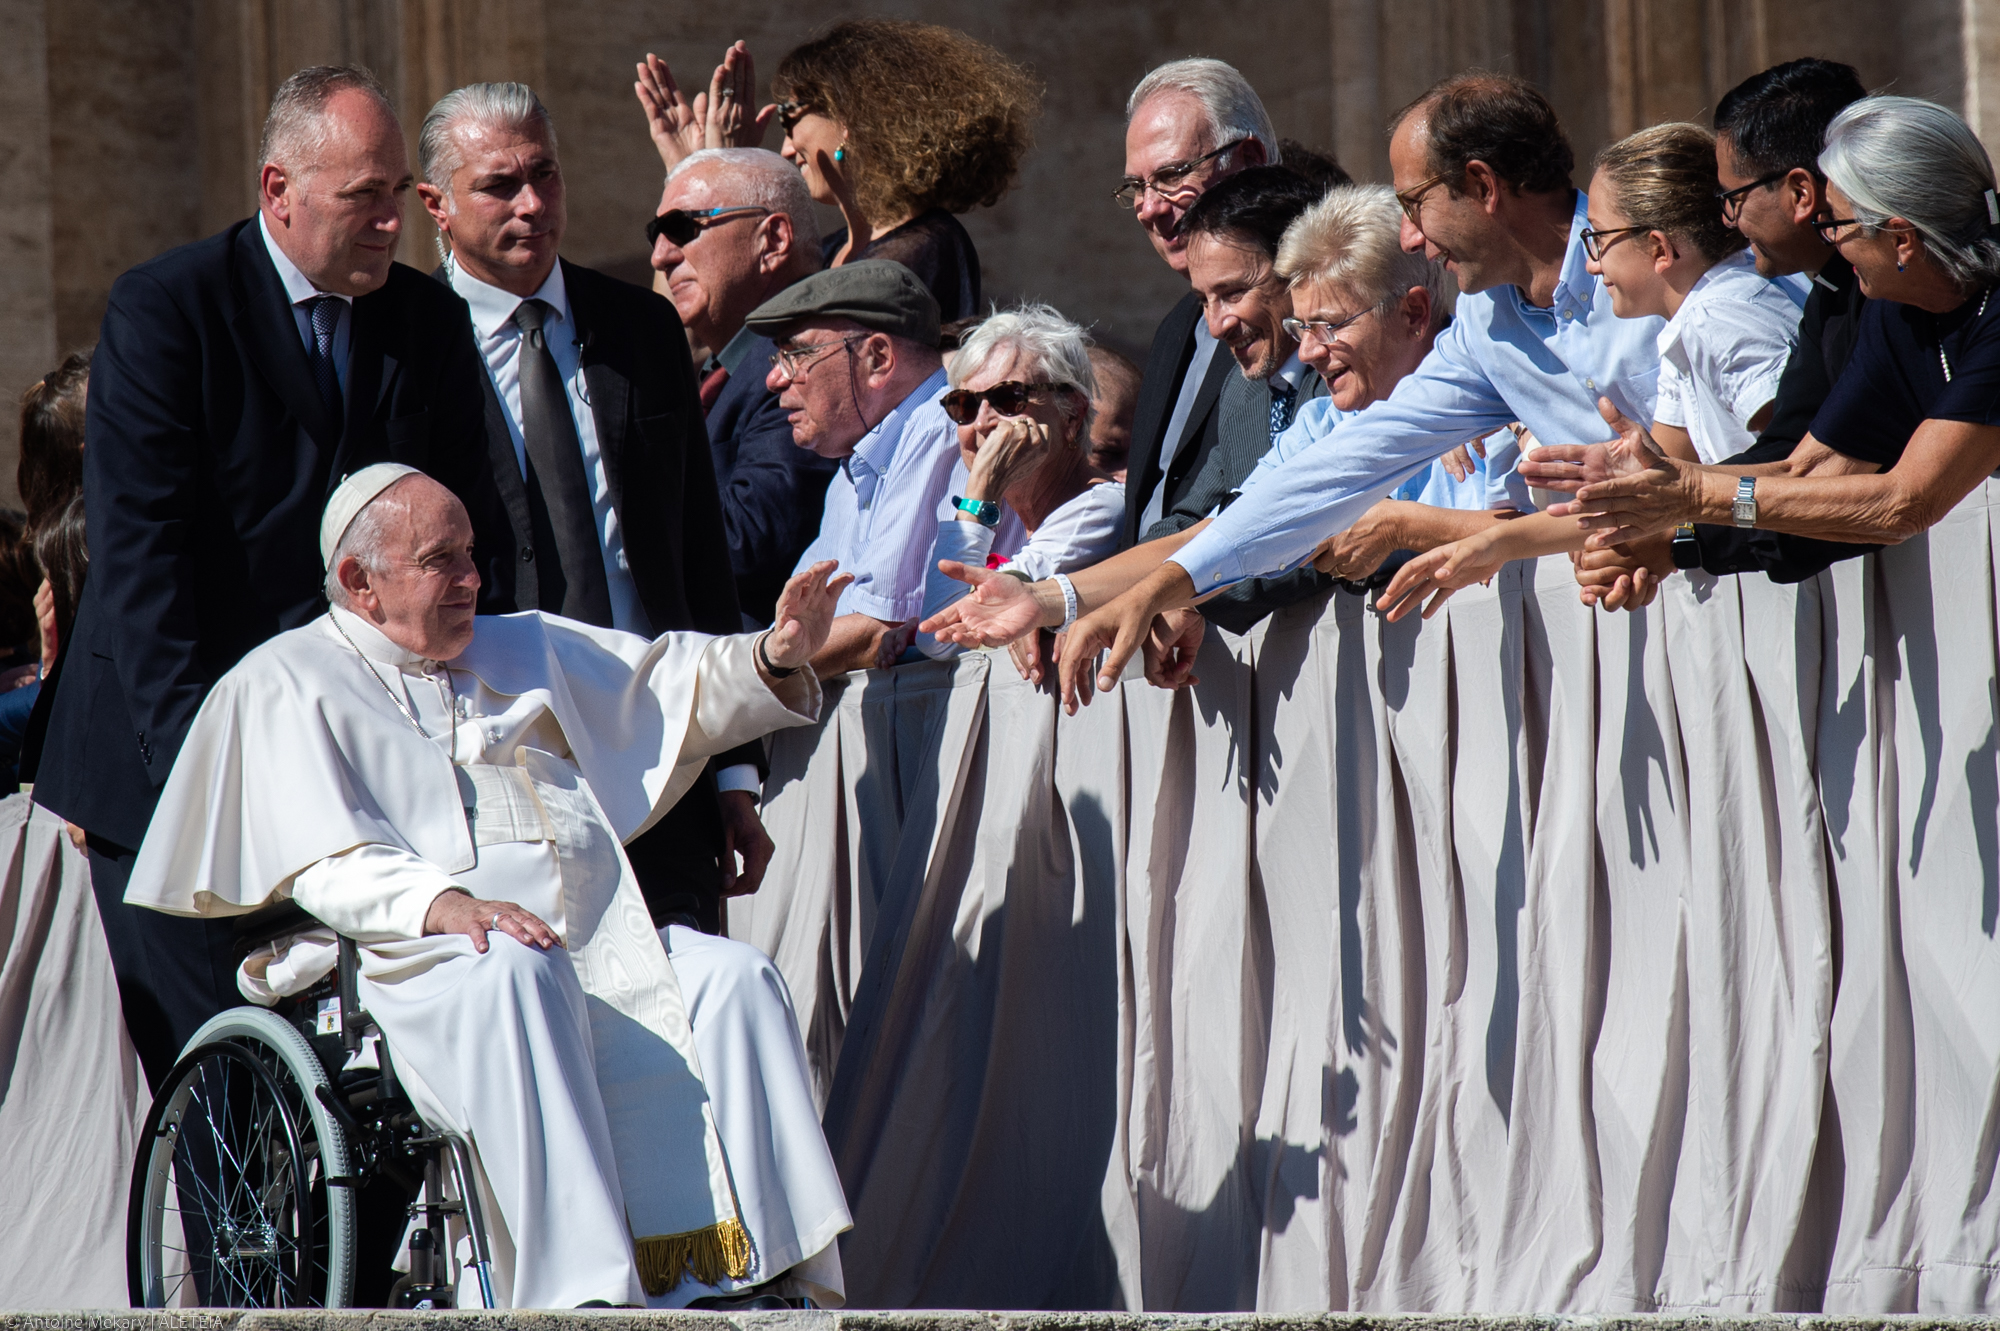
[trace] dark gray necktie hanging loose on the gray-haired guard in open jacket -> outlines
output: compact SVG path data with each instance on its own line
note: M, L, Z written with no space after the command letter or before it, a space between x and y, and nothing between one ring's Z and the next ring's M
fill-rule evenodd
M604 580L604 546L598 544L590 478L584 476L584 446L570 416L570 394L556 358L542 338L548 304L524 300L514 310L520 328L520 434L528 448L528 484L542 492L548 526L556 534L562 564L562 604L550 604L548 566L542 566L542 610L570 620L612 626L612 594Z

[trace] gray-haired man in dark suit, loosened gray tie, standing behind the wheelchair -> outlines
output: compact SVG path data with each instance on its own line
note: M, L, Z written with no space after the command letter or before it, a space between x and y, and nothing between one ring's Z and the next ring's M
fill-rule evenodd
M674 308L558 258L562 164L526 84L446 94L418 136L418 194L448 246L486 372L506 524L480 560L508 610L632 634L742 632L688 338ZM772 843L756 743L732 749L626 845L654 919L716 933ZM720 789L718 789L720 785ZM744 855L742 873L736 853Z

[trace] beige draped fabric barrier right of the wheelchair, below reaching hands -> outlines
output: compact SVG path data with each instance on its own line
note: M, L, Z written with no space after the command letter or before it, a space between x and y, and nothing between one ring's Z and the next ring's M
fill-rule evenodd
M830 687L732 931L850 1303L2000 1311L1996 504L1632 616L1334 594L1076 717Z

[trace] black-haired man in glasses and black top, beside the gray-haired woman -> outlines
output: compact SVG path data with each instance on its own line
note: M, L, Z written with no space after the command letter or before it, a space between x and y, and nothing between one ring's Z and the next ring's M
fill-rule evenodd
M1826 212L1826 176L1820 174L1826 126L1864 96L1852 66L1806 56L1752 74L1716 104L1722 220L1744 234L1766 278L1794 272L1812 278L1770 424L1754 448L1728 462L1790 458L1854 352L1868 298L1854 268L1820 238L1812 220ZM1836 560L1870 550L1876 546L1706 524L1678 532L1676 540L1640 546L1654 568L1700 564L1710 574L1764 572L1772 582L1804 582Z

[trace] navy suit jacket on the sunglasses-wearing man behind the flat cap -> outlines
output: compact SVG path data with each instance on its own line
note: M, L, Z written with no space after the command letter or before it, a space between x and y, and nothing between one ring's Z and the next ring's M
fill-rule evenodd
M798 556L820 534L826 486L840 464L792 442L778 394L764 388L778 344L756 338L708 408L708 452L722 492L736 600L746 626L764 628Z

